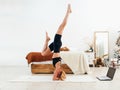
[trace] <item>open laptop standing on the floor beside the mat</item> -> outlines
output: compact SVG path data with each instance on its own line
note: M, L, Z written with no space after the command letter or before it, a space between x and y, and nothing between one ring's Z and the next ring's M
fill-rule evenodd
M99 77L96 77L96 78L99 79L100 81L111 81L114 77L115 71L116 71L116 68L109 67L106 76L99 76Z

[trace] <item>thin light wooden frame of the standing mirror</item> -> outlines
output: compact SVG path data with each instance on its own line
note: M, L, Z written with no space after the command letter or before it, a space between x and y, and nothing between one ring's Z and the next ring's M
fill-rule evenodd
M109 59L109 32L108 31L95 31L94 32L94 57L96 58L96 33L107 33L107 36L108 36L108 59Z

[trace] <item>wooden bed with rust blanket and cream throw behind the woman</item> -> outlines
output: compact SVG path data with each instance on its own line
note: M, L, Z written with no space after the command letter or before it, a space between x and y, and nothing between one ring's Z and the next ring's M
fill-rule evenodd
M84 53L76 51L61 51L62 69L67 74L85 74L89 72L88 60ZM26 56L28 64L31 66L31 72L37 73L53 73L52 55L42 56L41 52L30 52Z

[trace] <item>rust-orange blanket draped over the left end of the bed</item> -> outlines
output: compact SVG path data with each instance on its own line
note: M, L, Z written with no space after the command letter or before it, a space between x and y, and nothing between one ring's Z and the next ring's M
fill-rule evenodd
M53 53L51 53L48 56L42 56L41 52L30 52L27 54L26 60L27 60L28 64L30 64L31 62L50 61L50 60L52 60L52 55L53 55Z

